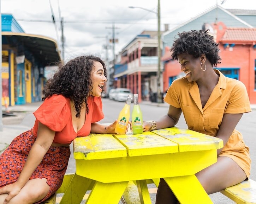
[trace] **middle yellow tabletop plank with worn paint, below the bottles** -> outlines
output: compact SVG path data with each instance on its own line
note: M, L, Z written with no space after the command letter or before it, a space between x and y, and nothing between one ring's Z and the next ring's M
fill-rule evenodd
M126 147L130 157L178 152L176 143L152 132L136 135L132 133L115 134L114 137Z

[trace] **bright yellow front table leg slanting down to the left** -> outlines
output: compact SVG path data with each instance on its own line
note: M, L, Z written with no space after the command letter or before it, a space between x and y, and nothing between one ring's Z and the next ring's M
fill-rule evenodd
M128 181L116 182L116 183L101 183L95 181L93 189L86 200L86 204L115 204L118 203L124 190L128 184Z

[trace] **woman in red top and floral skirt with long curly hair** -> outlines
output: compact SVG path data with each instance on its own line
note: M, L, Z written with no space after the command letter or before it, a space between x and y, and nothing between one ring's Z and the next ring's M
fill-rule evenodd
M17 136L0 156L0 203L41 203L61 186L69 145L90 133L115 133L103 119L101 92L107 81L104 62L81 56L61 65L33 113L34 127Z

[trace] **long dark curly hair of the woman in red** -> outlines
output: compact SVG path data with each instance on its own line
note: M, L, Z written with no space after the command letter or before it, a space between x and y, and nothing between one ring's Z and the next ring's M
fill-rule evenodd
M99 57L93 55L76 57L66 64L59 65L59 69L53 78L46 82L42 100L44 101L53 94L62 95L74 102L76 117L80 117L83 103L86 104L88 114L87 97L93 88L91 85L91 71L93 71L94 62L102 64L104 75L107 78L105 63Z

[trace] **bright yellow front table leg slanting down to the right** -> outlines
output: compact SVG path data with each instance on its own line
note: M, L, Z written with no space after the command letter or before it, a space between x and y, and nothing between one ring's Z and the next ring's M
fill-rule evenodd
M213 203L195 175L164 179L180 203Z

